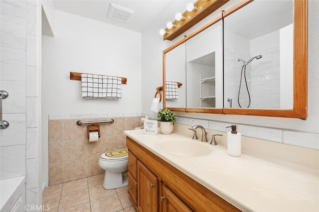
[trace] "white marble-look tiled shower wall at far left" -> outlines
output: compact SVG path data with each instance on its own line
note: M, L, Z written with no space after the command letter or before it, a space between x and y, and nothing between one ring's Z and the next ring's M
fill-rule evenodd
M0 180L26 176L26 204L41 201L38 163L39 43L37 0L0 0L0 90L9 93L2 101L0 129Z

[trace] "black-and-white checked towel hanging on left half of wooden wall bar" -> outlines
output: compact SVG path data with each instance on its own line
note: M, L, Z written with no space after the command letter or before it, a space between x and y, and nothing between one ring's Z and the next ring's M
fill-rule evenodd
M97 99L102 97L102 76L81 74L82 97Z

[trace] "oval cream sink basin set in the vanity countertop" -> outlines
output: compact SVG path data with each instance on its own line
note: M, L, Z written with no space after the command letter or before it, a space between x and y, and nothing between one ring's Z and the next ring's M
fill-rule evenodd
M208 148L207 144L186 139L160 141L158 149L165 153L182 157L198 157L212 153L212 150Z

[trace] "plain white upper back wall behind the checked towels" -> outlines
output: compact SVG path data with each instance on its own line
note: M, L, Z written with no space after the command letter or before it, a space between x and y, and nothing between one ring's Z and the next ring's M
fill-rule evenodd
M49 115L88 118L141 113L141 33L59 10L55 10L54 23L54 37L42 36L45 164L48 164ZM70 72L126 77L122 99L82 98L81 81L70 80Z

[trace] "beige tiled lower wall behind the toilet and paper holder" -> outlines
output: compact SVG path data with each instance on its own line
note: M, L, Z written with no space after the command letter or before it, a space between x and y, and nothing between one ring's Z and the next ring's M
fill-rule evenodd
M80 118L83 121L107 118ZM87 125L78 126L79 119L49 120L49 185L65 183L104 173L98 165L103 152L126 148L124 130L142 125L141 116L112 117L114 123L100 124L101 137L89 142Z

